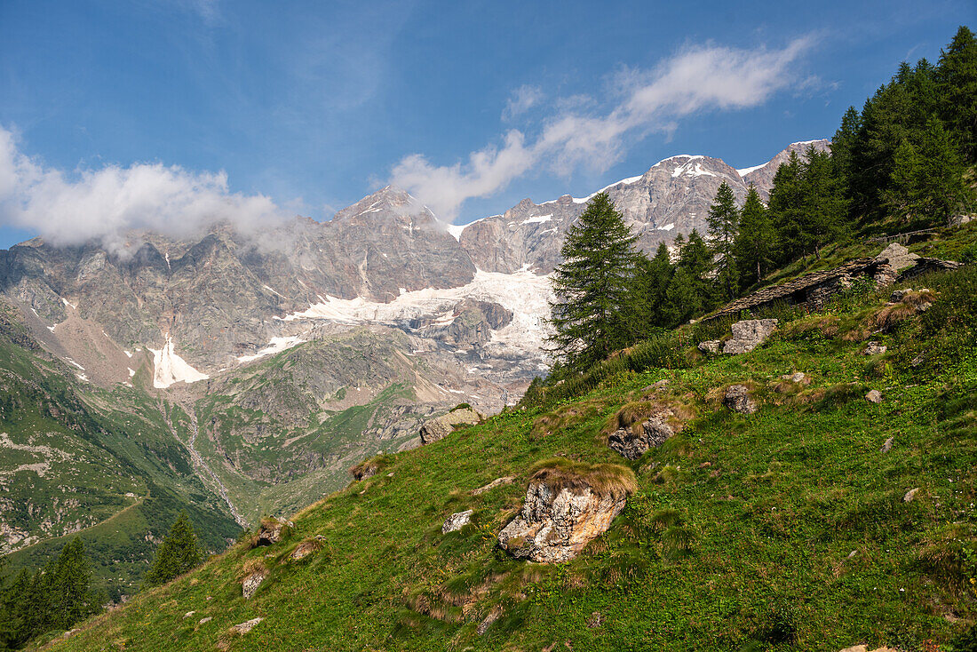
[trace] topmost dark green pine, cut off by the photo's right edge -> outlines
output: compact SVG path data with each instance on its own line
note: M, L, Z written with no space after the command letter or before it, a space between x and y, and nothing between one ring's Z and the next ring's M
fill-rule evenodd
M977 162L977 37L965 26L941 52L936 68L941 115L959 141L963 159Z

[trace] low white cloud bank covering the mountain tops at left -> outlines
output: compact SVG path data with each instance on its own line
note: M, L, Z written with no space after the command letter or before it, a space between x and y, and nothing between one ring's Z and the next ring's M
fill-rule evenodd
M225 172L137 163L67 175L20 152L0 127L0 223L53 244L95 239L123 253L119 243L132 229L187 237L229 221L255 233L281 216L267 196L232 193Z

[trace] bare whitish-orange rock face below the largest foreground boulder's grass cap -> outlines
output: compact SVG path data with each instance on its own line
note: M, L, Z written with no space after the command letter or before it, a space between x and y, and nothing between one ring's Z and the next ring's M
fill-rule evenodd
M544 481L531 482L522 510L498 535L515 557L540 563L573 559L611 526L626 497L599 496L589 487L555 492Z

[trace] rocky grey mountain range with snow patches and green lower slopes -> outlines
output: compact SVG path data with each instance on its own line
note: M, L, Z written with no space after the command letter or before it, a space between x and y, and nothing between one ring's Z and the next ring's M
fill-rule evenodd
M739 170L671 156L598 192L652 251L704 233L720 183L766 197L809 147L828 141ZM0 552L105 527L163 492L231 532L344 485L366 456L418 445L423 420L454 405L514 404L547 369L548 275L588 198L527 198L454 226L386 187L260 238L225 224L0 250L0 489L34 489L0 498ZM18 403L25 388L35 403ZM130 525L144 541L163 527Z

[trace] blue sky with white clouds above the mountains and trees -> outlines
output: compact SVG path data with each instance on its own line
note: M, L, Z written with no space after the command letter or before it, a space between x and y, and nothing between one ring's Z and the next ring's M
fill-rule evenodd
M675 153L754 165L830 137L974 18L972 0L5 0L0 247L222 201L328 219L391 180L464 223Z

